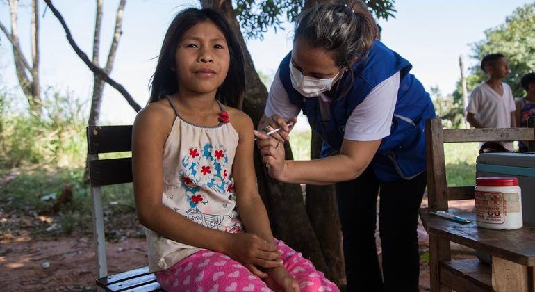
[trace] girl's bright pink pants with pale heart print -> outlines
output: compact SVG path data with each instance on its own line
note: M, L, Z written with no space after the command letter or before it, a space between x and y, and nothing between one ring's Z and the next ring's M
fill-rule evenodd
M311 261L278 241L284 267L295 278L301 291L340 291L316 270ZM156 272L156 279L165 291L272 291L259 277L226 254L201 250Z

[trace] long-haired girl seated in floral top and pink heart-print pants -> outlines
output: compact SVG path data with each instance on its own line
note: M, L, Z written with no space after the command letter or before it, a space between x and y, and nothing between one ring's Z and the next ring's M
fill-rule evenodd
M244 92L242 51L224 17L196 8L176 15L133 127L149 269L166 291L338 291L272 236L256 189L252 120L230 107Z

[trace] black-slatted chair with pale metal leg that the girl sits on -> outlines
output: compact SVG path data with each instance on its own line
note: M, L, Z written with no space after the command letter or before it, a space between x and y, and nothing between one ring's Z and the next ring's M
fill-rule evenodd
M106 266L101 186L131 183L132 159L99 159L99 154L131 151L132 126L89 126L87 135L94 253L99 278L97 286L106 291L162 291L156 277L149 273L147 267L108 276Z

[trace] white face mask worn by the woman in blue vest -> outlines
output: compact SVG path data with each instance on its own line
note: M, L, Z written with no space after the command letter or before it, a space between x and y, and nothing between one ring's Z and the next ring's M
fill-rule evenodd
M292 62L290 62L290 79L292 80L292 86L304 97L317 97L323 92L331 90L336 76L340 74L342 70L338 71L333 78L313 78L304 76Z

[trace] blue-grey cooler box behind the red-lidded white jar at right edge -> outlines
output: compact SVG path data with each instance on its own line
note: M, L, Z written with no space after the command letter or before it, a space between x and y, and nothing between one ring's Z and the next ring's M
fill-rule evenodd
M522 192L522 221L535 225L535 152L485 153L477 156L476 177L518 177ZM489 254L476 251L479 260L491 262Z

